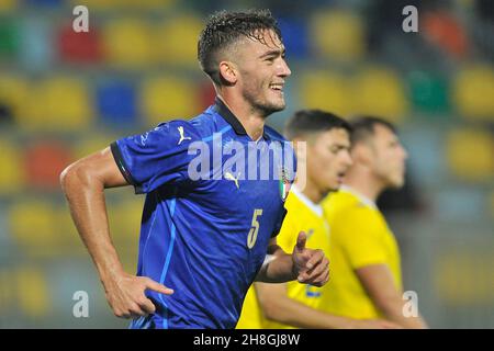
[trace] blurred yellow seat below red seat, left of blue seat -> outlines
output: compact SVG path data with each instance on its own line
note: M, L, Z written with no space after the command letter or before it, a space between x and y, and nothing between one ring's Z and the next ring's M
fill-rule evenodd
M92 103L82 81L53 77L37 81L31 92L22 116L25 128L80 133L92 123Z

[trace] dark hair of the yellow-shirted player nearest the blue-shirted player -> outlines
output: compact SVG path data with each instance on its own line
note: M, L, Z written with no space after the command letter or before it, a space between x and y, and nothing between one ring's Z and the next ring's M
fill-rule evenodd
M346 129L351 134L351 125L344 118L322 110L301 110L290 117L284 126L284 135L293 140L296 137L327 132L334 128Z

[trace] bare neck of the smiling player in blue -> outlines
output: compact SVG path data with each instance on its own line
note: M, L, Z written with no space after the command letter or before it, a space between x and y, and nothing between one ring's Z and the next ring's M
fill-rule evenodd
M252 140L258 140L265 132L266 116L260 112L252 110L243 100L233 99L231 95L218 94L218 98L232 111L235 117L242 123L245 132Z

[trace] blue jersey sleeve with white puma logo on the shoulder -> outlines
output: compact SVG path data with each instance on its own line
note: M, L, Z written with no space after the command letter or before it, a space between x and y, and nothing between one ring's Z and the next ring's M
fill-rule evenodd
M111 150L135 192L148 193L188 178L188 166L193 158L188 147L199 139L197 129L189 122L171 121L144 134L119 139L112 143Z

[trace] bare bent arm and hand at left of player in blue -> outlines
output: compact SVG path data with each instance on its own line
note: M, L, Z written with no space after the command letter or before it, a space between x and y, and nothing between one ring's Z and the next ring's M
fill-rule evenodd
M96 264L106 299L117 317L143 316L155 312L145 296L147 288L162 294L172 290L145 276L127 274L110 237L104 189L128 185L110 147L82 158L60 174L77 230Z

